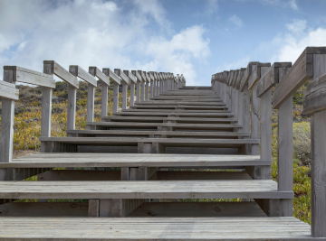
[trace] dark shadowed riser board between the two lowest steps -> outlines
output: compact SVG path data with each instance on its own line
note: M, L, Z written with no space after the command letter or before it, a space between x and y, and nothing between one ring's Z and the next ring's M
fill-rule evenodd
M4 217L88 217L89 202L10 202ZM254 202L144 202L128 217L266 217Z

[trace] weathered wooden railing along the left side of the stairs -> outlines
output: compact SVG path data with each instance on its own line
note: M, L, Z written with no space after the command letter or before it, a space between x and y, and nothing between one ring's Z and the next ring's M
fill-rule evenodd
M131 73L132 72L132 73ZM127 109L128 87L130 87L130 106L135 104L135 83L137 83L137 103L158 97L160 94L180 88L186 79L172 73L145 72L141 70L110 70L90 67L89 72L78 65L71 65L65 70L53 60L43 61L43 73L17 66L4 67L4 81L0 81L0 97L3 107L1 116L0 162L11 162L14 150L14 101L18 99L15 82L23 82L43 87L41 136L51 137L52 98L55 80L53 75L68 83L67 130L75 129L77 89L79 79L88 83L87 122L94 120L94 95L97 79L101 81L101 116L108 115L108 88L113 82L113 113L119 111L119 86L122 85L122 110ZM149 87L150 82L150 87ZM141 85L141 88L140 88ZM150 89L150 97L149 97ZM141 96L140 96L141 91ZM141 99L140 99L141 97ZM41 144L41 150L43 146Z

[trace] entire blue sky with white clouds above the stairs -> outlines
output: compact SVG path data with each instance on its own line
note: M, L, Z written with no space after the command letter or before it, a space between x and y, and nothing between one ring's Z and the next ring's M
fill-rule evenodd
M188 85L326 45L325 0L1 0L0 65L167 71Z

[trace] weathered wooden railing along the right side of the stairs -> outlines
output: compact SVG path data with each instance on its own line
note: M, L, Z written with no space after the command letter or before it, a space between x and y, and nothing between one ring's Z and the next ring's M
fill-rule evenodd
M307 80L303 113L312 117L312 236L326 237L326 47L307 47L294 62L249 62L246 68L216 73L212 86L235 113L243 131L260 138L245 153L272 159L272 107L278 110L278 190L292 191L292 95ZM272 98L272 88L275 87ZM248 170L270 179L268 167ZM292 216L292 199L257 201L270 216ZM271 208L273 207L273 209Z

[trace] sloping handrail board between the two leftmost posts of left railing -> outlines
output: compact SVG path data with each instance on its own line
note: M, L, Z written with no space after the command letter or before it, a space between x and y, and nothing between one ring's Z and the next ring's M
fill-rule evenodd
M55 88L55 81L52 75L43 74L34 70L27 70L18 66L4 66L4 70L14 70L14 81L36 86Z

